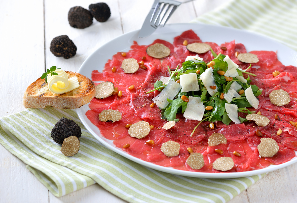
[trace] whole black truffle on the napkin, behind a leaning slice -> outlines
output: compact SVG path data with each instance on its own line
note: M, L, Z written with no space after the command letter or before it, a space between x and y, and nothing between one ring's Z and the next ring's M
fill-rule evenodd
M65 138L70 136L81 136L81 130L78 124L73 120L67 118L61 118L50 132L53 140L58 144L63 144Z

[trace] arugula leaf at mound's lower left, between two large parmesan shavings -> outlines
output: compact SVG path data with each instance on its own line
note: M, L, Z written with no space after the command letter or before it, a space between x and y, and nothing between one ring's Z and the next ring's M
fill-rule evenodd
M168 109L166 109L164 112L164 116L167 118L168 121L176 119L176 114L178 113L178 111L181 111L181 113L184 113L188 104L188 102L184 102L182 99L175 99L175 100L167 99L167 101L171 104L168 107Z

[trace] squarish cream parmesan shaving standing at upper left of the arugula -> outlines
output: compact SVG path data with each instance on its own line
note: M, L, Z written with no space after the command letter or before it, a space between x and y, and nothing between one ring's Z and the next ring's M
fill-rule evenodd
M198 91L199 85L196 73L181 75L181 92Z

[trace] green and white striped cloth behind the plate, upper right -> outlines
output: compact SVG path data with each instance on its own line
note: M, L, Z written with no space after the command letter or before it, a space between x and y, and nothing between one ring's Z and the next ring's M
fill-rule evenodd
M191 21L198 22L256 32L297 51L296 0L230 0Z

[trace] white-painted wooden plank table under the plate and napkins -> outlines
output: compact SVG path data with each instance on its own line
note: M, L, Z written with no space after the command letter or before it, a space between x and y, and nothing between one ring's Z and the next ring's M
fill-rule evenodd
M106 0L111 17L95 19L85 29L68 24L73 6L88 8L94 0L0 1L0 117L24 110L27 86L50 66L77 72L98 47L121 34L140 29L153 0ZM182 4L168 23L187 23L226 1L196 0ZM51 40L68 35L77 46L74 58L55 57ZM296 202L297 164L271 172L230 202ZM98 184L56 198L26 165L0 145L0 202L125 202Z

